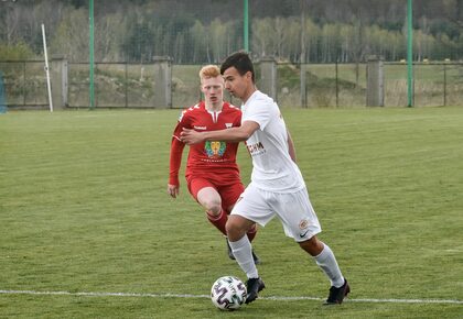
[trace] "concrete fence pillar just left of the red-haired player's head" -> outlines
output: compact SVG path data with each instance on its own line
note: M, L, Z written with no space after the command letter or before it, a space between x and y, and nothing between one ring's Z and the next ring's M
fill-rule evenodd
M169 56L154 56L154 108L172 107L172 59Z

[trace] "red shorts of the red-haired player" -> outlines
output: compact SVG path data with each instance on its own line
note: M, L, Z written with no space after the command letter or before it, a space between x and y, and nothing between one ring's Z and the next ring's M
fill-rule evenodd
M222 198L222 208L227 213L229 213L228 208L234 206L243 191L245 191L245 186L239 178L234 183L220 183L218 180L214 180L214 178L190 176L186 182L189 191L194 197L194 199L196 199L196 201L197 193L204 187L212 187L217 190Z

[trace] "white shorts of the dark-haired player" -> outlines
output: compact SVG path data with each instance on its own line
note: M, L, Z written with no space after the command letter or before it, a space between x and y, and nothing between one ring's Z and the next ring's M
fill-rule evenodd
M243 216L262 227L278 216L287 237L297 242L306 241L322 231L305 187L294 193L282 194L257 188L251 183L232 213Z

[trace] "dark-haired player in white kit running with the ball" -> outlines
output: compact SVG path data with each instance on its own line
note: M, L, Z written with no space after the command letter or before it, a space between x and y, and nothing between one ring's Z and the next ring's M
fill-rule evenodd
M246 237L255 223L266 226L274 216L284 233L314 257L331 282L324 305L341 304L351 292L336 258L316 238L321 227L309 199L302 174L295 164L295 151L277 103L256 88L252 63L245 52L228 56L220 66L225 88L243 101L241 127L219 131L184 130L182 141L246 141L252 157L251 183L235 205L227 224L228 242L241 270L246 273L248 297L252 302L265 288L252 260L251 244Z

